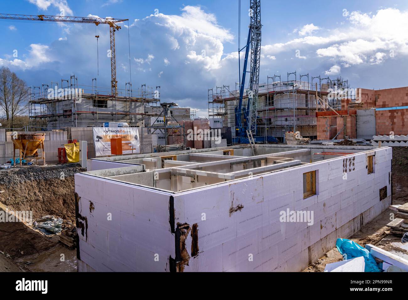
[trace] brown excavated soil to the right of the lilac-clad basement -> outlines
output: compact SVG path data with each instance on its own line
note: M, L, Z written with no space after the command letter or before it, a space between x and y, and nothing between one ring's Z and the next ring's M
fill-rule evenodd
M392 148L392 204L404 204L408 202L408 148ZM360 231L357 231L350 240L365 247L366 244L373 244L381 247L383 238L390 239L386 243L401 242L401 238L393 235L386 235L389 230L386 226L390 222L390 213L395 213L387 209L377 218L371 220ZM342 256L336 248L328 251L322 258L311 264L303 272L323 272L326 264L338 262Z

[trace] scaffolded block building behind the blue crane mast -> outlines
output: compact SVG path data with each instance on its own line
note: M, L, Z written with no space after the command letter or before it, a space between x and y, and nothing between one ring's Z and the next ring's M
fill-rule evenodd
M238 88L230 90L223 85L208 90L208 116L222 122L223 127L231 127L235 133L235 107L239 100ZM316 111L341 109L341 100L330 97L337 85L348 89L348 81L332 81L330 78L313 77L296 72L268 76L259 84L256 108L257 134L273 136L283 141L285 132L299 131L303 137L317 137ZM244 92L243 106L248 102L248 90ZM244 120L242 120L243 122Z

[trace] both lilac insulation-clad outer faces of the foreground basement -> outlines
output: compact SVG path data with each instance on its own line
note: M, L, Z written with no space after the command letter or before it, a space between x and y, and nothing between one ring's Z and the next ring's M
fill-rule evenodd
M367 155L375 155L371 174ZM89 223L79 270L301 271L388 208L391 158L380 148L179 193L76 174ZM304 199L310 171L316 195ZM313 219L282 222L287 210ZM102 221L108 211L115 222Z

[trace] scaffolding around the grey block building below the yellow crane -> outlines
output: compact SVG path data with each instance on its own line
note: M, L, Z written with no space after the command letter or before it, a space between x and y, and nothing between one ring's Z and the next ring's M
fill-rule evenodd
M160 87L142 84L136 90L127 82L125 89L112 95L111 87L99 87L96 78L92 85L78 84L73 75L60 82L30 87L29 117L45 120L47 129L103 126L105 122L126 122L129 126L144 126L155 113L147 107L160 107Z

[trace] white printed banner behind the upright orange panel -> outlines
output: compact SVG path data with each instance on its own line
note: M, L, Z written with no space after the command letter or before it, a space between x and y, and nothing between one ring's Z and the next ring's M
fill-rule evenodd
M95 156L112 155L111 138L122 138L123 154L140 153L137 127L93 127Z

